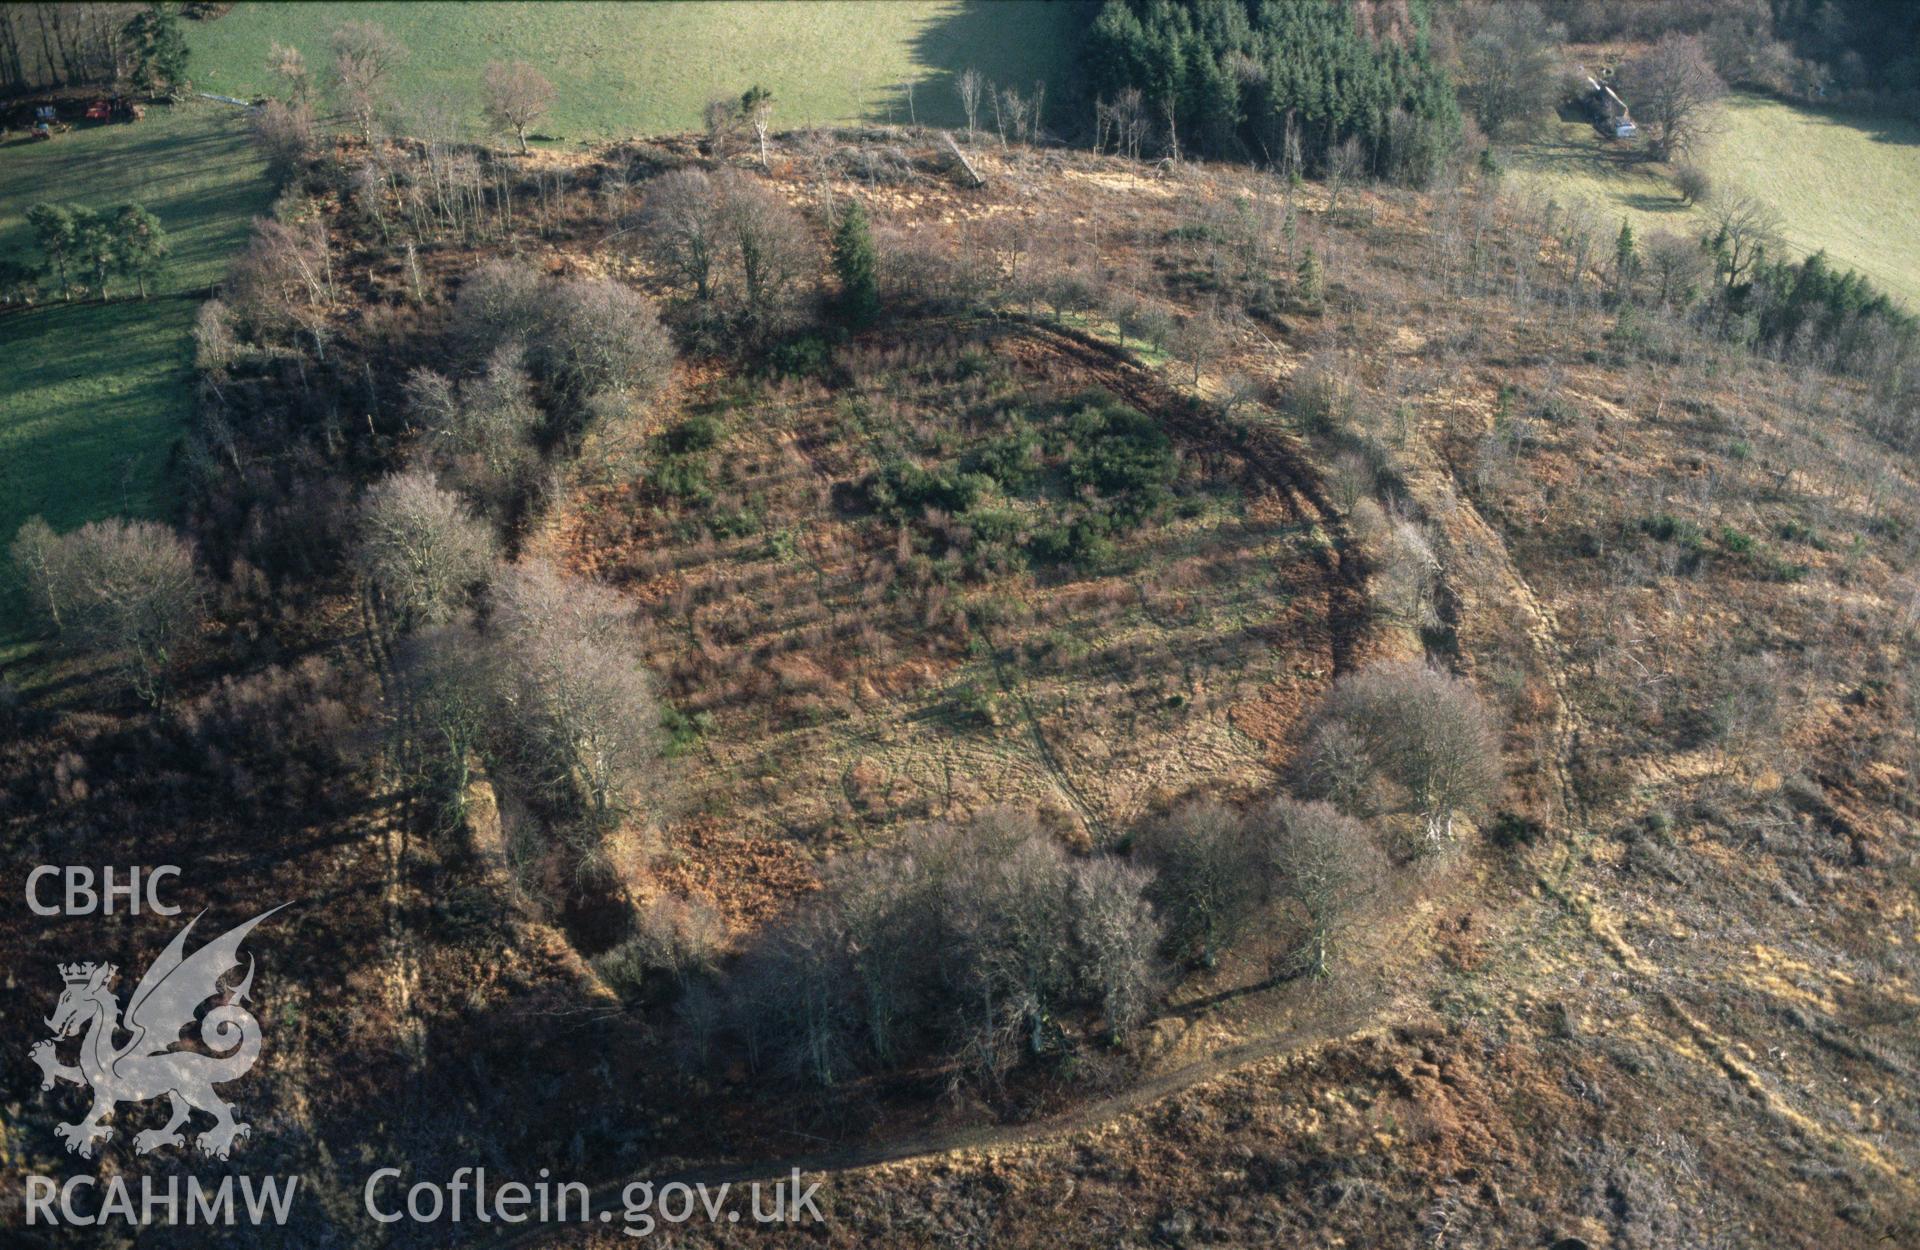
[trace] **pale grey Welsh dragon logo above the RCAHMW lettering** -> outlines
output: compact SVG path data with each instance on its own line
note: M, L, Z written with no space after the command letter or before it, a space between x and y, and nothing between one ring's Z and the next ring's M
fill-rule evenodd
M115 1106L148 1102L161 1094L171 1098L173 1116L165 1127L134 1135L132 1144L140 1154L161 1146L184 1146L180 1125L194 1110L215 1119L213 1127L194 1142L202 1154L227 1158L234 1142L248 1135L248 1125L234 1119L232 1106L215 1094L213 1087L246 1075L259 1058L259 1022L244 1006L253 985L253 956L246 958L246 977L240 985L223 991L221 979L240 966L240 943L253 925L280 906L228 929L190 956L186 935L194 931L200 916L188 920L140 977L132 998L127 1000L125 1020L113 991L113 977L119 972L113 964L60 966L67 989L60 995L46 1027L54 1031L56 1041L84 1033L81 1062L77 1068L61 1064L54 1041L36 1043L29 1058L40 1066L40 1089L54 1089L54 1081L71 1081L94 1091L94 1106L84 1119L54 1129L67 1142L67 1150L92 1158L96 1144L113 1137L106 1121L111 1119ZM175 1046L184 1041L180 1031L194 1023L200 1004L213 997L221 1000L200 1022L200 1041L215 1054L177 1050ZM115 1035L129 1039L115 1043Z

